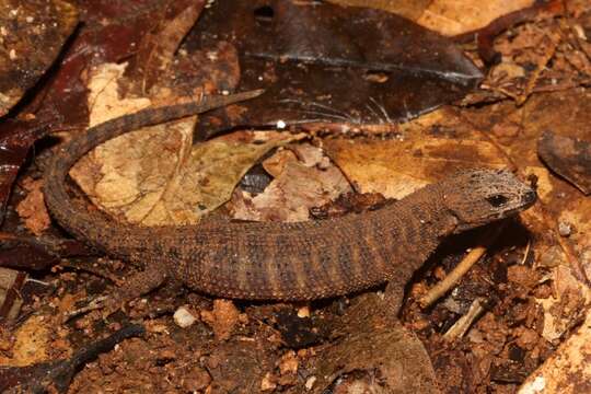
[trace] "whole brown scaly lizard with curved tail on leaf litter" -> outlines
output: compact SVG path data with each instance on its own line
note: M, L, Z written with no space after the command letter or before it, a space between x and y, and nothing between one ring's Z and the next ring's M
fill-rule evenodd
M70 167L96 146L258 94L143 109L89 128L53 157L44 195L57 222L115 258L143 264L113 302L120 306L166 279L215 297L267 301L332 298L387 282L397 311L406 282L442 239L514 216L536 200L536 193L511 172L491 169L460 172L378 210L303 222L139 227L91 211L69 196Z

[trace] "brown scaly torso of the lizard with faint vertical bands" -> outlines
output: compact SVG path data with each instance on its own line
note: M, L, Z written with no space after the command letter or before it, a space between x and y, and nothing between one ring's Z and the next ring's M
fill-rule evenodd
M162 234L161 255L176 255L170 274L192 288L227 298L312 300L391 280L404 286L455 227L426 204L405 199L320 222L228 223L144 234L152 240ZM414 213L420 219L409 220L412 207L422 208Z

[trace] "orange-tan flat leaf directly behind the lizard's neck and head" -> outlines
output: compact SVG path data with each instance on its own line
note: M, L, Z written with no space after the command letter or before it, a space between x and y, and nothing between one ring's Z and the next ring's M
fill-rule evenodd
M455 128L456 121L448 109L437 111L410 121L401 138L333 139L325 149L358 193L397 199L454 171L507 165L482 134Z

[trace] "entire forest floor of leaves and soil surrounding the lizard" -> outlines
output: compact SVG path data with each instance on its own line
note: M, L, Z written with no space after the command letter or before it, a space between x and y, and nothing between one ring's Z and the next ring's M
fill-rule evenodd
M589 391L589 1L2 7L0 391ZM103 318L99 301L143 262L108 258L47 215L58 143L248 89L266 92L100 146L69 192L139 225L329 220L495 167L538 201L447 239L397 316L385 286L269 303L166 282Z

